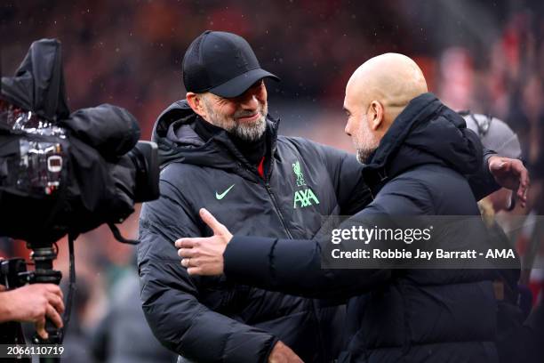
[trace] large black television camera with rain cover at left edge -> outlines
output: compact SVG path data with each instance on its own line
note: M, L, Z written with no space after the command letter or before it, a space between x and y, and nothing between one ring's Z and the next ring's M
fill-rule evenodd
M34 42L0 95L0 235L51 244L158 198L156 144L126 110L68 109L60 42Z

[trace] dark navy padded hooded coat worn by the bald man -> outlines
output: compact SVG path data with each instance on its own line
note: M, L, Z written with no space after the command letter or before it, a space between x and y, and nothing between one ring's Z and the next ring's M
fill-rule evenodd
M476 138L434 95L415 98L364 166L375 198L355 217L479 215L462 176L479 165ZM323 243L235 237L224 254L225 274L229 280L291 294L356 295L348 303L346 351L340 361L497 360L492 273L321 270Z

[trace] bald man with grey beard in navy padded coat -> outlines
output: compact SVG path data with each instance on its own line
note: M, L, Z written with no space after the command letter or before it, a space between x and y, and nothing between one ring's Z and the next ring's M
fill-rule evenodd
M348 81L344 109L373 197L354 220L479 215L463 176L480 163L477 136L428 93L413 60L387 53L366 61ZM214 236L176 242L189 274L224 273L286 294L352 296L341 362L497 361L496 301L486 271L322 270L330 239L233 237L206 210L201 217Z

